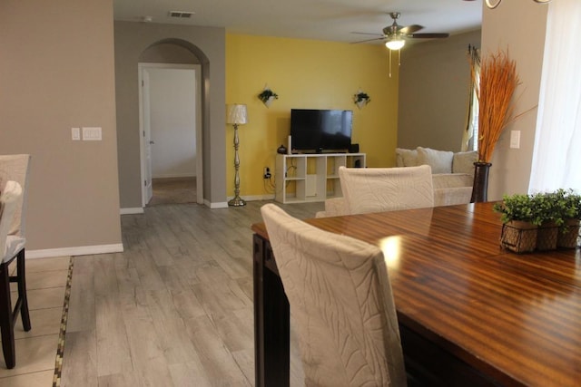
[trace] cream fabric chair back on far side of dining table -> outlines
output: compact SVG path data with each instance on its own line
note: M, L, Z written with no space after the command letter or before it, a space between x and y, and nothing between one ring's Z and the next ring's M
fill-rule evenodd
M350 215L434 207L431 168L339 168Z

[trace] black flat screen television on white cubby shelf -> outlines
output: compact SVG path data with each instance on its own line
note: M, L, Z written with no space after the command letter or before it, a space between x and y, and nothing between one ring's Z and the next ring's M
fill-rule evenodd
M292 109L291 147L301 152L347 151L353 111Z

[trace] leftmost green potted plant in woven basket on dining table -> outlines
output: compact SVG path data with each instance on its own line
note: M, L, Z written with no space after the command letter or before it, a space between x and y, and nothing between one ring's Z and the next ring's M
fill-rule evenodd
M537 247L538 226L544 218L527 194L504 195L493 210L500 213L503 223L500 246L516 253L533 251Z

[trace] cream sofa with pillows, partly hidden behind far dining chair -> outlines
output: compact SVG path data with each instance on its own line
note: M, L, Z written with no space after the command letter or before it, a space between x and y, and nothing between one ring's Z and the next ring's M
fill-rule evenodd
M434 206L467 204L472 198L476 151L452 152L418 147L415 150L396 148L396 167L415 167L427 164L432 169ZM318 218L348 215L343 198L325 200L325 210Z

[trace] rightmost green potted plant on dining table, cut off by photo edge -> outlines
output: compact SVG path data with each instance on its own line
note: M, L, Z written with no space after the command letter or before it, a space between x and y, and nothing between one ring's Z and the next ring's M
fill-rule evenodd
M560 216L563 219L559 227L556 247L575 248L579 237L579 219L581 219L581 195L573 189L557 189Z

